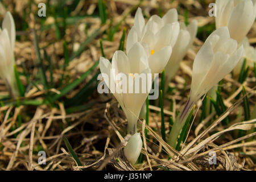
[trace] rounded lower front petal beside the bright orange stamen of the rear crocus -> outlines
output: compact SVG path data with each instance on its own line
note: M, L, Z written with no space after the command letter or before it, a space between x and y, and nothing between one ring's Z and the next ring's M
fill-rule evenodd
M162 73L172 53L172 47L166 46L159 51L156 51L153 55L148 58L151 72Z

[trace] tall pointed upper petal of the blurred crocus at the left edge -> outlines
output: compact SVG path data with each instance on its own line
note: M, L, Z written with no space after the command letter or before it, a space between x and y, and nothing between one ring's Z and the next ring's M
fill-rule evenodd
M2 28L7 30L9 39L11 42L11 48L14 50L14 43L16 39L16 32L15 32L15 23L13 16L9 11L5 14L5 18L3 19Z

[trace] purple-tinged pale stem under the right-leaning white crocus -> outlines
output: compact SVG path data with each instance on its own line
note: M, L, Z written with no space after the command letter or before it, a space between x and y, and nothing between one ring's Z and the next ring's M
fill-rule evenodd
M177 116L174 122L174 126L172 126L171 133L169 135L168 144L172 147L176 147L177 138L179 137L180 131L185 125L186 119L193 108L194 102L191 101L190 97L187 101L187 104L184 106L181 113Z

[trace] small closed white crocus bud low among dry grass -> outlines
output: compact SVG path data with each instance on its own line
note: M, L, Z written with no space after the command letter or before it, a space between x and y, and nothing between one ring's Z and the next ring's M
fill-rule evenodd
M131 163L135 164L141 154L142 140L139 133L135 133L128 141L125 147L126 159Z

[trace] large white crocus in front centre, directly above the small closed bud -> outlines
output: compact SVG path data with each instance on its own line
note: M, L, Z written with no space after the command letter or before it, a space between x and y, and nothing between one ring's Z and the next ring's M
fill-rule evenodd
M137 42L131 47L127 56L122 51L115 51L112 63L104 57L100 57L100 69L106 85L126 114L128 133L136 133L139 113L152 85L151 71L144 48ZM139 85L135 85L136 80L140 79L140 75L144 75L146 81L144 79L139 82ZM134 89L138 89L138 87L139 92L136 93ZM130 89L134 92L130 92Z

